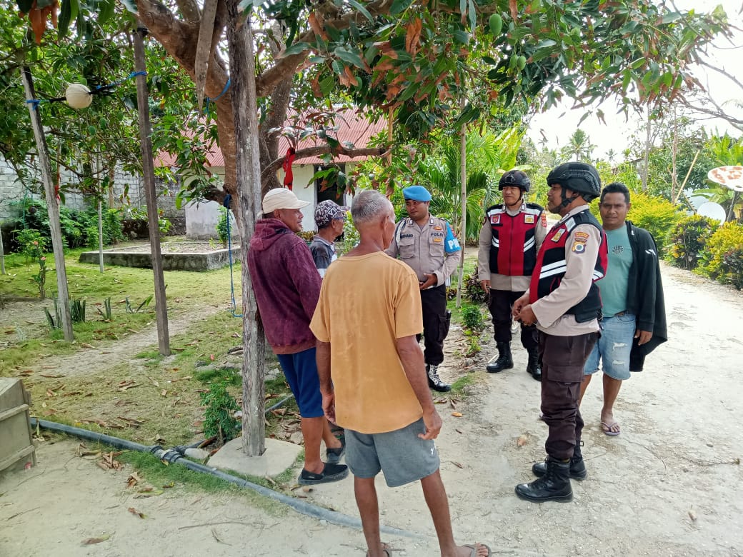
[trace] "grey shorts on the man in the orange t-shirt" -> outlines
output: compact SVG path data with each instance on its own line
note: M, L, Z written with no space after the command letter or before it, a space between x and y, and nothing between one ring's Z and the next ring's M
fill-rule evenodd
M345 430L345 463L357 478L374 478L380 470L390 487L403 486L432 475L440 461L433 440L423 440L423 418L386 433Z

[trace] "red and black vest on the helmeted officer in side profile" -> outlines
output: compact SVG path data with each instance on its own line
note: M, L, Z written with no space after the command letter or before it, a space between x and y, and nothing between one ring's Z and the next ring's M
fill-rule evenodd
M599 246L599 253L596 256L591 288L583 300L565 312L571 313L575 316L577 322L583 323L591 321L591 319L597 319L600 316L601 296L596 281L606 275L606 266L608 264L606 233L594 215L591 215L588 207L585 208L585 211L571 216L547 233L547 237L542 244L542 249L539 250L539 255L536 256L536 267L534 268L534 273L531 276L531 284L529 285L529 303L533 304L536 300L544 298L559 287L562 277L565 276L565 270L567 270L565 244L573 229L580 224L592 224L601 234L601 244ZM571 249L580 251L580 241L577 241L576 238L573 239L574 245ZM585 245L583 248L585 248Z

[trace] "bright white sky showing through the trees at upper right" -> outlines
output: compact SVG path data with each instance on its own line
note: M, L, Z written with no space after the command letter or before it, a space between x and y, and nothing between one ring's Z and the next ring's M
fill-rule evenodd
M728 21L734 27L738 27L739 30L733 29L732 43L727 39L716 39L713 42L714 47L709 50L707 60L717 67L726 69L730 74L738 74L743 81L743 76L739 72L739 59L743 57L743 14L740 13L743 8L742 1L677 0L675 4L680 10L694 9L697 12L709 12L716 5L722 5L727 13ZM708 71L707 68L701 66L695 66L693 72L719 104L731 99L743 102L743 89L733 85L717 72ZM567 102L542 114L536 114L531 120L528 136L538 146L539 142L542 141L542 135L546 137L547 146L550 149L559 149L565 146L568 143L568 137L578 127L580 117L584 113L583 108L571 110L570 107L571 102ZM601 108L604 112L606 125L593 115L580 123L580 128L588 134L591 143L596 146L593 156L606 157L609 150L621 154L627 148L629 138L637 131L642 116L630 114L629 121L627 121L624 114L617 114L617 105L611 101L604 102L597 108ZM719 131L720 133L728 131L734 137L741 135L740 131L731 128L724 120L705 120L702 126L710 131ZM621 155L618 160L621 160Z

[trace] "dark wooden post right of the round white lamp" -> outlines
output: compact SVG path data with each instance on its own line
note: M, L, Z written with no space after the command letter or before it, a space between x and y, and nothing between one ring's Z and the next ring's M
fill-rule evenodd
M155 164L152 161L152 139L149 126L149 103L147 100L147 75L144 61L144 36L147 30L137 22L134 32L134 69L145 74L137 75L137 112L139 113L140 146L142 149L142 174L147 200L147 222L149 245L152 250L152 274L155 276L155 316L158 321L158 347L163 356L170 355L168 335L168 302L165 297L163 258L160 255L160 227L158 226L158 195L155 192Z

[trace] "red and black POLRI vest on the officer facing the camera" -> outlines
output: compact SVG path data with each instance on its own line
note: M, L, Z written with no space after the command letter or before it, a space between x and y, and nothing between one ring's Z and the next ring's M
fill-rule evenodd
M524 203L516 215L504 205L493 205L485 213L493 241L490 244L490 273L529 276L536 265L536 227L544 226L542 206Z

